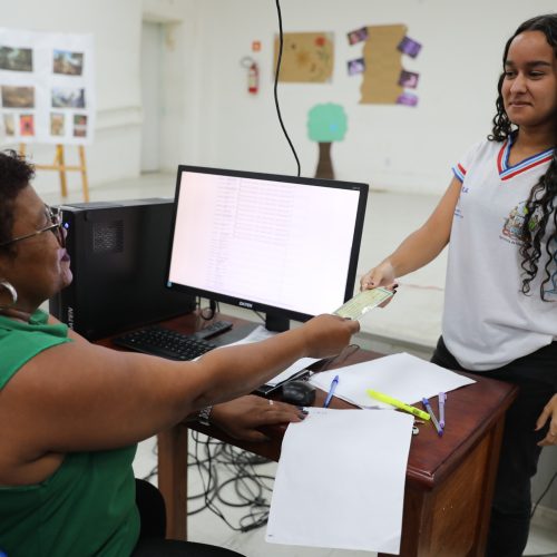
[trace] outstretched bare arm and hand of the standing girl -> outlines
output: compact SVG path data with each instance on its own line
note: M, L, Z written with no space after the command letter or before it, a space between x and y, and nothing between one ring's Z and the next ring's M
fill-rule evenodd
M428 221L410 234L389 257L362 276L362 290L390 286L397 277L427 265L441 253L449 243L460 188L460 180L452 178Z

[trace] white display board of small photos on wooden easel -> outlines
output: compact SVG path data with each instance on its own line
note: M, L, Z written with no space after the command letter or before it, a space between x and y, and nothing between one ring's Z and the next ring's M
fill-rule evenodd
M92 35L0 28L2 143L90 144L94 86Z

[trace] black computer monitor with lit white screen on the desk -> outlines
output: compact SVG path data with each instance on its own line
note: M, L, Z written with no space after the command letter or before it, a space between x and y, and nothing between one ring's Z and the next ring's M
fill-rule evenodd
M352 297L368 185L178 167L167 286L289 329Z

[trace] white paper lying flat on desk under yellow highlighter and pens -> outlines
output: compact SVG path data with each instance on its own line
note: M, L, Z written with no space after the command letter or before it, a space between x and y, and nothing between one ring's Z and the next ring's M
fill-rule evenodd
M365 392L367 389L412 404L421 401L423 397L437 397L440 392L449 392L476 382L405 352L315 373L310 382L328 391L336 374L339 384L334 395L361 408L392 409L390 404L371 399ZM447 404L450 404L450 397Z

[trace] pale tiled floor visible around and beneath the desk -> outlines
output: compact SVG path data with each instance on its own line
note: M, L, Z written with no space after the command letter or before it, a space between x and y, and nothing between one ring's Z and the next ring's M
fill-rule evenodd
M40 179L40 176L39 178ZM91 201L116 201L144 197L167 197L174 194L175 176L169 174L144 175L139 179L121 180L91 188ZM42 195L47 203L60 203L58 194ZM69 202L80 202L80 189L71 189ZM360 265L361 275L385 256L403 237L429 215L438 199L433 196L395 195L372 192L365 217ZM359 342L364 348L381 352L405 350L427 358L440 332L444 283L446 254L426 268L401 281L395 303L385 310L370 312L362 323ZM227 309L231 312L244 310ZM246 315L246 313L244 313ZM136 475L144 477L156 466L154 439L139 446L135 462ZM192 443L190 443L192 444ZM275 465L265 465L261 473L273 473ZM155 478L156 481L156 478ZM189 473L190 494L201 492L197 473ZM244 509L226 507L226 517L234 521ZM535 520L526 555L557 555L556 511ZM189 538L236 549L247 557L349 557L361 551L343 551L292 546L270 545L264 541L264 528L247 534L232 531L219 518L204 510L188 519ZM370 554L365 554L370 555ZM371 554L373 555L373 554Z

